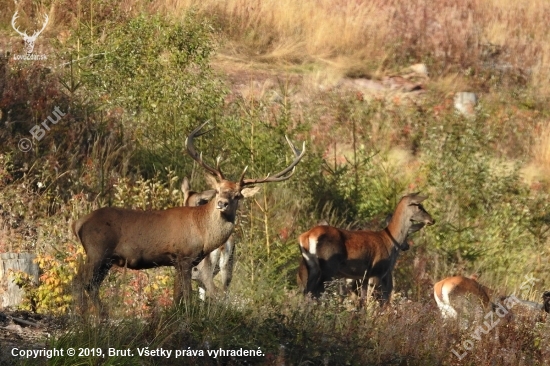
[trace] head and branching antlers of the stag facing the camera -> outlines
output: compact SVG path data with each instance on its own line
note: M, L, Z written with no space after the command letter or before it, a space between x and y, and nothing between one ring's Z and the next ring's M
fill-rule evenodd
M205 133L200 133L200 131L207 123L208 121L197 127L189 134L187 140L185 141L185 146L187 147L187 152L189 153L189 155L209 173L206 175L206 178L210 186L215 191L214 205L216 210L221 213L227 214L228 216L233 216L235 214L240 199L251 197L260 190L259 187L250 186L260 183L280 182L290 178L294 174L294 168L305 154L305 143L303 145L302 151L299 151L287 137L286 140L290 145L292 152L294 153L294 161L288 167L277 174L268 174L265 178L259 179L245 179L246 170L248 168L245 167L239 180L233 182L227 180L222 173L220 169L220 157L216 159L216 167L212 167L204 162L204 160L202 159L202 155L198 153L195 149L193 143L194 138Z

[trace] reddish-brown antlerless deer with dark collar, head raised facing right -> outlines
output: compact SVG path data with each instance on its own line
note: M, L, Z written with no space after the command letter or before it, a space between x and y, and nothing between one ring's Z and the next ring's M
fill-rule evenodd
M392 257L392 252L403 250L402 243L413 222L434 224L435 221L421 205L425 199L418 193L404 196L388 227L381 231L316 226L300 235L300 250L307 272L302 270L302 281L306 284L304 294L319 297L324 292L326 281L349 278L363 280L361 299L369 297L390 272L392 258L395 257L395 254Z

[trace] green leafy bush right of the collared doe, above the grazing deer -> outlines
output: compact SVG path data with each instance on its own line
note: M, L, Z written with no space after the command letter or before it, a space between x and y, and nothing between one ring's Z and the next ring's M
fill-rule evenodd
M422 151L437 220L427 240L455 270L469 264L498 276L514 267L520 275L513 264L533 245L528 228L542 211L528 209L519 165L492 154L496 136L483 119L449 115L427 125Z

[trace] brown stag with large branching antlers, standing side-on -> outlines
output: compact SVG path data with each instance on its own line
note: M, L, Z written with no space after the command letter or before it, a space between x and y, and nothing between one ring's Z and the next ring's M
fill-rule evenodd
M239 180L232 182L225 179L219 166L220 158L214 168L195 150L193 140L200 136L198 133L206 123L189 134L185 145L189 155L212 174L206 177L215 190L213 200L202 206L167 210L104 207L73 223L73 232L87 255L76 277L82 309L87 307L84 291L96 308L101 309L99 287L113 265L130 269L174 266L174 302L179 303L183 297L187 299L191 292L192 267L229 239L239 200L259 190L259 187L248 186L290 178L305 153L305 143L300 152L287 137L294 153L294 160L288 167L257 179L245 179L245 167Z

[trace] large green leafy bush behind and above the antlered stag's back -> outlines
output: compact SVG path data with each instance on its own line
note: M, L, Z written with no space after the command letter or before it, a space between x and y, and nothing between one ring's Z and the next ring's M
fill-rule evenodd
M109 33L105 43L84 42L80 51L96 55L83 65L90 97L121 109L140 173L188 171L185 136L199 121L219 117L225 95L209 63L212 27L193 13L181 21L141 15Z

